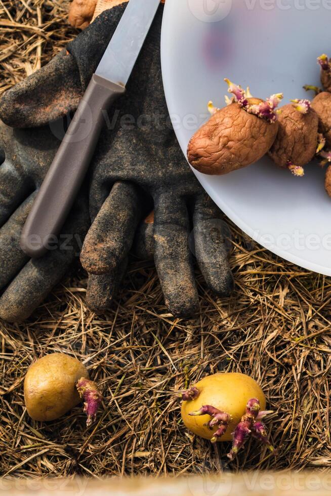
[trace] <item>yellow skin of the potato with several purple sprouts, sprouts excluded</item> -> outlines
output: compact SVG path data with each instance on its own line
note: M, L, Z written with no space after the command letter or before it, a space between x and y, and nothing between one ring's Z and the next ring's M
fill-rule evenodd
M199 410L203 405L211 405L222 410L232 417L225 434L218 441L231 441L231 432L234 431L241 417L245 413L247 401L257 398L261 410L266 409L266 398L262 389L252 377L235 372L220 373L207 376L194 385L199 390L196 399L183 401L182 419L186 427L204 439L212 439L217 427L212 430L204 426L211 420L209 415L190 416L190 412Z

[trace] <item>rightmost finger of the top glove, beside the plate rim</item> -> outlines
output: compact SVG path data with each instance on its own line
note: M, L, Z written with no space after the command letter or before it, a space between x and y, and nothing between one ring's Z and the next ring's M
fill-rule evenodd
M233 291L227 239L229 228L214 201L201 194L193 213L194 251L197 263L208 286L220 296Z

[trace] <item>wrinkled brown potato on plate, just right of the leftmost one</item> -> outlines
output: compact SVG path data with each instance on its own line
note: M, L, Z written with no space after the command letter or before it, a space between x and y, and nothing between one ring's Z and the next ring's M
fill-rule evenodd
M331 96L331 95L330 95ZM284 105L278 115L277 137L269 151L270 157L280 167L288 161L302 167L316 153L318 116L313 109L303 114L292 104Z

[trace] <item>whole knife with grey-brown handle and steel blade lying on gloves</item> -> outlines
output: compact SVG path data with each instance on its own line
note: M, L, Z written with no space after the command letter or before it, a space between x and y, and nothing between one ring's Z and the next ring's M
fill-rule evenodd
M103 113L125 93L159 2L129 1L25 222L21 248L29 257L45 255L59 234L88 171Z

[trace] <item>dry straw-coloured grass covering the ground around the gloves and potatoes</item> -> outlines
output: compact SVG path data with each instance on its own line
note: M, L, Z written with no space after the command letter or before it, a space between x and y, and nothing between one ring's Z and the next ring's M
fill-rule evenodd
M6 89L46 62L73 32L64 3L0 0L0 11ZM169 315L155 269L132 261L121 295L102 317L84 305L80 272L24 324L0 322L2 475L331 466L331 279L277 259L234 226L232 234L235 293L221 301L197 274L201 313L195 319ZM26 414L26 369L53 351L85 360L103 388L99 421L89 429L80 407L50 424ZM253 442L227 465L228 445L214 447L181 424L173 392L218 370L250 374L262 385L275 411L268 421L275 457Z

